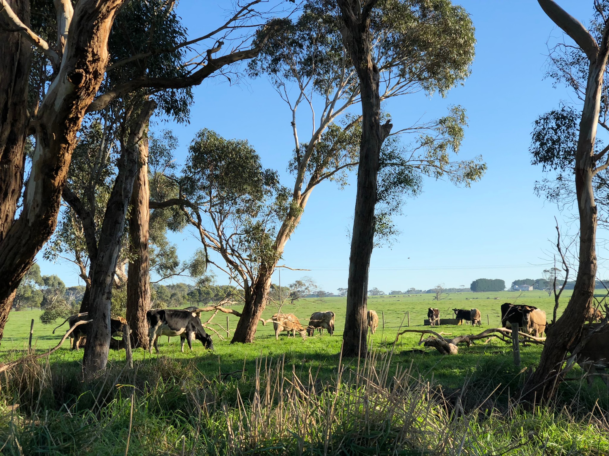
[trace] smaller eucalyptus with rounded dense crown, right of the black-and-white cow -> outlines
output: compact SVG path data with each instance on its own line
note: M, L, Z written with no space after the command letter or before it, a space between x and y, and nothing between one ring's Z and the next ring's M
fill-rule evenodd
M278 260L273 244L290 210L289 191L275 171L262 167L247 141L201 130L189 147L180 195L208 263L243 290L244 309L233 342L243 337L242 322L253 339Z

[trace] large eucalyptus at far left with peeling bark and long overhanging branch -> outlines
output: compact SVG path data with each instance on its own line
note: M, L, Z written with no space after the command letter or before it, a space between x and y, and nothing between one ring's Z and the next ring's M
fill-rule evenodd
M128 7L122 8L125 4ZM205 35L181 41L174 40L179 36L169 36L160 47L156 47L158 40L155 37L163 33L163 27L158 26L164 24L164 18L171 16L175 0L163 2L161 10L158 10L161 2L83 0L73 7L69 0L37 0L35 21L29 20L26 0L1 0L2 31L8 30L9 35L12 34L12 41L7 41L6 48L2 48L7 52L2 54L3 75L10 78L9 75L22 74L27 68L27 52L19 54L22 47L27 47L22 44L31 45L40 58L29 66L29 73L26 71L25 74L30 83L38 81L37 91L29 92L30 98L35 98L34 109L24 109L27 100L23 94L27 94L27 90L11 94L7 119L15 126L16 139L10 142L0 139L3 148L0 150L0 214L3 220L0 275L4 278L0 283L0 338L13 292L57 224L63 187L77 144L77 132L86 112L103 111L114 100L128 94L146 97L163 90L169 91L164 92L165 95L188 90L213 74L227 71L230 64L254 57L264 39L252 46L248 30L266 22L268 17L259 8L260 4L261 0L252 0L238 5L223 24ZM128 55L121 55L120 59L111 58L108 38L114 18L119 11L127 14L129 9L138 7L143 12L154 10L155 20L133 30L130 40L114 43L115 49L122 46ZM132 16L132 19L131 25L137 24L138 18ZM266 33L275 30L274 26L262 27ZM147 46L143 49L130 46L132 39L143 35L150 38L146 41ZM20 38L15 39L15 36ZM5 45L4 41L2 45ZM148 64L150 61L162 66L164 56L187 49L199 57L183 61L177 68L180 75L148 71L152 67ZM132 77L127 78L129 72ZM116 74L125 77L116 77ZM8 87L10 83L3 78L0 88ZM157 98L163 96L158 94ZM3 100L0 102L6 106ZM4 132L4 123L2 127ZM15 219L25 166L24 134L33 135L35 146L23 209ZM4 133L0 133L0 137L2 135Z

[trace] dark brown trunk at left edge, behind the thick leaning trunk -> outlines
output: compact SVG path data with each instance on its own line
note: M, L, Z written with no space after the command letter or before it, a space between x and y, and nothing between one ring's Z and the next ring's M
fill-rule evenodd
M24 24L30 23L29 0L8 0ZM15 220L23 187L27 86L32 46L0 17L0 242Z

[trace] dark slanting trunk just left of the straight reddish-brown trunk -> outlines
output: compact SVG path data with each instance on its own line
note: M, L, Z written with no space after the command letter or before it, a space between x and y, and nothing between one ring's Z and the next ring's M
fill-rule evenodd
M92 375L106 367L110 350L110 308L112 285L116 261L121 247L122 232L129 201L133 193L133 182L138 174L139 148L142 147L148 121L156 107L148 102L132 126L127 145L121 153L118 174L112 187L104 223L97 243L97 258L91 274L91 295L88 318L91 328L86 335L83 367L87 375Z

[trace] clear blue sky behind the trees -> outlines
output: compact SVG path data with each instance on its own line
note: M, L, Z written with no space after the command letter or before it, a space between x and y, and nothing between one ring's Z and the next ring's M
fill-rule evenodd
M476 59L465 85L447 98L407 95L387 103L395 129L421 116L441 116L446 106L467 109L466 130L460 156L481 154L487 174L471 188L456 188L431 179L424 192L409 199L398 218L401 235L393 247L375 249L369 288L389 292L411 286L427 289L469 286L476 278L538 278L549 266L549 240L554 240L554 216L566 221L550 203L533 194L541 169L530 165L528 152L532 122L560 100L570 100L566 89L552 88L543 75L547 64L546 41L560 30L534 0L461 0L476 26ZM178 12L197 36L218 24L224 15L210 2L182 0ZM592 1L559 3L582 21L591 16ZM225 81L225 80L224 80ZM163 125L180 138L178 162L200 128L210 128L227 138L249 140L266 167L280 171L291 186L286 164L293 148L290 112L264 79L229 85L209 80L194 89L195 105L190 125ZM359 107L358 107L359 109ZM309 275L326 291L345 287L355 188L337 189L331 182L316 188L305 215L286 247L281 283ZM602 233L600 233L602 236ZM189 232L172 235L182 258L199 247ZM40 255L39 255L40 256ZM39 258L43 274L58 274L67 285L76 285L76 269ZM600 276L606 269L601 265ZM278 277L275 275L275 282ZM224 283L223 277L218 277Z

